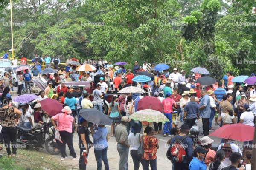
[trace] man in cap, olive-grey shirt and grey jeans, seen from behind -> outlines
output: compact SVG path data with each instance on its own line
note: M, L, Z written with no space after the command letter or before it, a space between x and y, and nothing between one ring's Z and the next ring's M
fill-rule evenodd
M117 142L117 151L119 153L119 170L128 170L128 155L129 147L128 144L128 133L126 130L126 125L129 122L127 116L122 116L121 124L116 126L116 142Z

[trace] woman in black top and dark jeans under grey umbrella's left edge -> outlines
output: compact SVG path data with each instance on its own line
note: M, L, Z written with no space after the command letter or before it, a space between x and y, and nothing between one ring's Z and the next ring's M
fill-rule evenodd
M89 154L89 144L90 144L90 136L89 132L87 131L88 122L83 117L79 118L79 128L77 130L78 133L78 146L80 148L80 159L79 159L79 170L86 170L86 164L84 163L84 156L82 156L83 151L86 151L86 159L88 158Z

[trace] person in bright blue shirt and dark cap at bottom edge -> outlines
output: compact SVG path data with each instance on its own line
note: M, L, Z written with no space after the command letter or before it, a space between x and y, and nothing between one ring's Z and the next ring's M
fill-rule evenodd
M206 170L206 164L203 159L207 150L204 147L198 146L193 151L193 159L189 164L189 170Z

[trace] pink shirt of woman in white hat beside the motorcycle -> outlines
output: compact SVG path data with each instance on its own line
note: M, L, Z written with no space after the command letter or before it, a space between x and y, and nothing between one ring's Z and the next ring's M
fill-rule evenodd
M57 123L58 123L58 118L59 118L58 130L72 133L72 123L74 121L74 118L69 114L65 115L63 113L59 113L59 114L56 114L55 116L52 116L52 119L57 121Z

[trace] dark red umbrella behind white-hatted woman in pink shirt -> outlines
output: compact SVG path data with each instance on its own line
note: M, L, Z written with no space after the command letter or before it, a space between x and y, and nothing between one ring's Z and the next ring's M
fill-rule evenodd
M41 109L43 109L50 116L55 116L58 113L62 113L63 106L57 100L44 99L40 101Z

